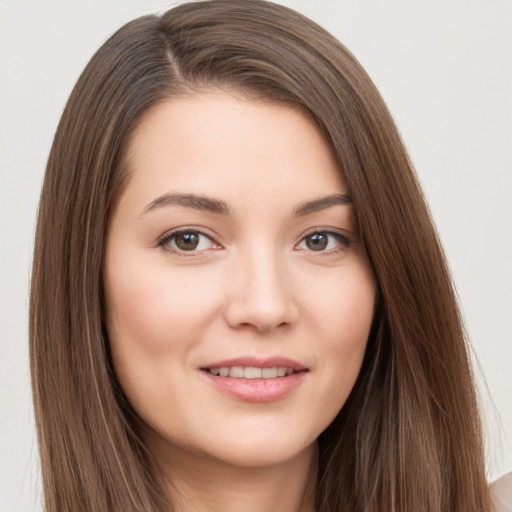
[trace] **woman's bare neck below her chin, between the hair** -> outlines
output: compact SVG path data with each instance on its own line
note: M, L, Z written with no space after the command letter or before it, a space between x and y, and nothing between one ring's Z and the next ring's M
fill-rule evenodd
M314 444L293 459L255 468L207 457L192 462L173 450L165 478L177 511L314 512L317 451Z

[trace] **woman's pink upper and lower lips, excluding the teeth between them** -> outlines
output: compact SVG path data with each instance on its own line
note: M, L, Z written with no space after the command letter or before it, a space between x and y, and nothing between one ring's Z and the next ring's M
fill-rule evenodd
M307 373L307 369L304 365L301 365L297 361L280 357L267 359L252 357L230 359L216 362L206 368L231 366L253 366L256 368L286 367L293 368L297 372L292 375L287 375L286 377L276 377L274 379L235 379L212 375L208 373L208 371L204 371L204 375L217 389L223 393L249 402L272 402L278 400L296 389Z

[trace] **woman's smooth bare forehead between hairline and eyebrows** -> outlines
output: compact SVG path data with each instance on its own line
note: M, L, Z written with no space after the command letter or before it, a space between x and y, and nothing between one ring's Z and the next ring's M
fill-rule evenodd
M141 201L167 192L229 202L257 195L275 200L276 191L280 202L345 192L332 151L303 113L225 91L153 107L133 130L126 159L127 188Z

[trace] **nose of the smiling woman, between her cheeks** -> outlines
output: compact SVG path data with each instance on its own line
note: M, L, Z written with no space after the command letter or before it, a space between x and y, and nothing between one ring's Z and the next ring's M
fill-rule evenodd
M240 255L232 269L225 309L233 328L271 332L290 326L298 319L293 283L284 262L275 254L261 251Z

